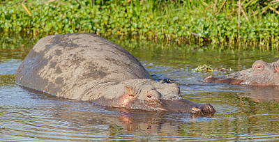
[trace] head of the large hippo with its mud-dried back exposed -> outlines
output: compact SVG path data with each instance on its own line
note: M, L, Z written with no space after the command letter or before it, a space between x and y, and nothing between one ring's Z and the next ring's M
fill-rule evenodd
M118 86L120 89L117 87L114 90L120 90L117 91L121 92L120 97L113 100L102 98L101 105L146 111L215 112L211 104L195 104L184 99L177 84L162 84L151 79L131 79L121 82Z

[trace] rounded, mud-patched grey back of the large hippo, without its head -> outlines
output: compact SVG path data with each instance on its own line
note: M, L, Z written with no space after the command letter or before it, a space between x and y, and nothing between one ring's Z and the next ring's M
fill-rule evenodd
M70 33L39 40L17 70L17 84L80 99L100 84L151 79L126 49L93 33Z

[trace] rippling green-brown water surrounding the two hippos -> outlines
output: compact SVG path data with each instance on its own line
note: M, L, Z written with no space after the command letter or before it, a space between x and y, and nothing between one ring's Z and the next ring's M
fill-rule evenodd
M211 103L214 116L98 107L15 84L15 72L36 39L0 40L0 139L2 141L275 141L279 139L279 88L205 84L250 68L257 59L278 60L277 51L215 46L112 41L136 56L154 79L179 81L183 97ZM195 50L193 50L195 49ZM193 72L202 64L232 71Z

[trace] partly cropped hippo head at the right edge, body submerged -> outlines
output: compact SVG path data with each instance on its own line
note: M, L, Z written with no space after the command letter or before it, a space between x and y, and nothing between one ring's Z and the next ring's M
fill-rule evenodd
M252 68L228 74L223 78L206 77L208 83L225 83L251 86L279 86L279 61L266 63L258 60Z

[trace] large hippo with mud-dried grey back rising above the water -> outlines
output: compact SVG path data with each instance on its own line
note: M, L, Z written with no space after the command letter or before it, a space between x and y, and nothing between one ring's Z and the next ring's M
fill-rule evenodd
M93 33L39 40L17 70L17 84L105 107L214 113L210 104L183 99L177 84L153 81L126 49Z

